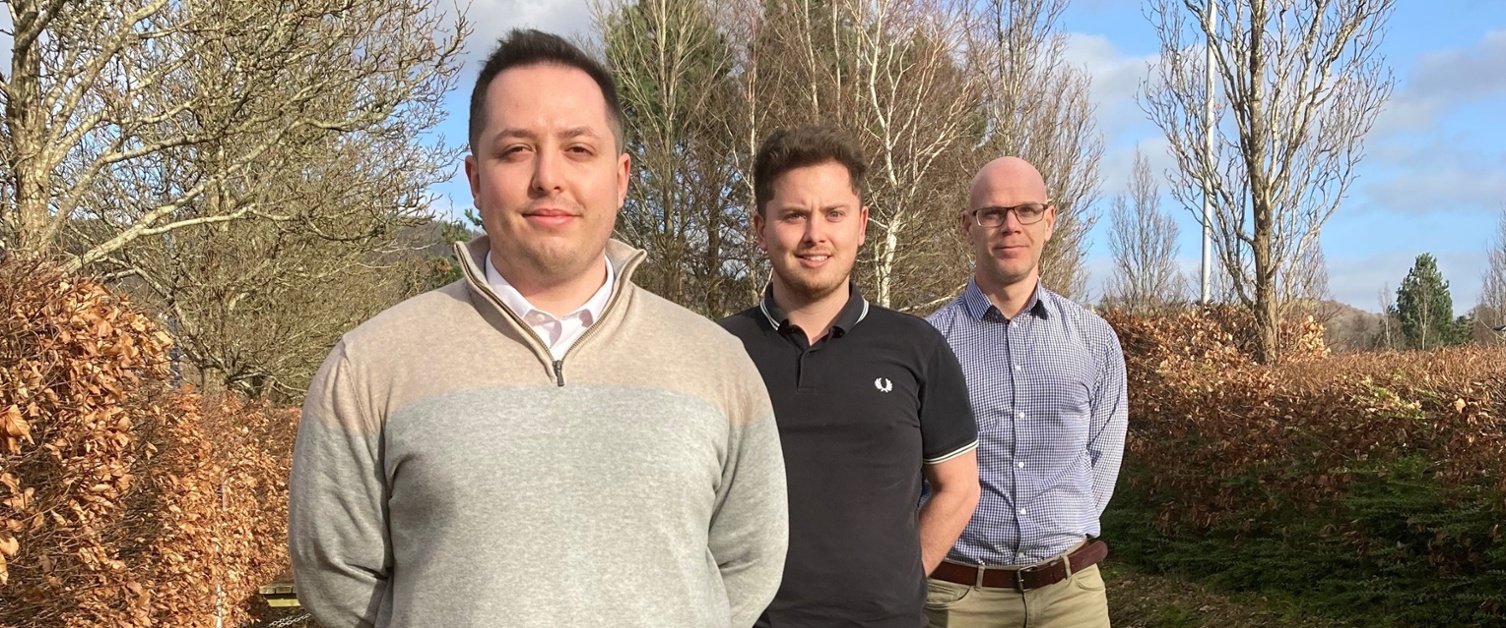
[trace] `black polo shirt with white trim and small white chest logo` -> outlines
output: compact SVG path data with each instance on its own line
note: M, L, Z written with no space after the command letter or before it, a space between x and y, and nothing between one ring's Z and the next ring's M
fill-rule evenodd
M721 321L764 375L785 449L789 554L759 626L920 628L922 465L977 446L962 369L925 319L857 286L809 345L765 291Z

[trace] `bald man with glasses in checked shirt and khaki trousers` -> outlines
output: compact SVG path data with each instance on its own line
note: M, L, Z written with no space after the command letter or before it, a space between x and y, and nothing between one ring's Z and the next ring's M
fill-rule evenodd
M1041 285L1056 206L1035 166L1018 157L983 166L961 224L973 279L928 321L967 378L982 494L931 572L929 625L1107 626L1099 517L1130 422L1119 339Z

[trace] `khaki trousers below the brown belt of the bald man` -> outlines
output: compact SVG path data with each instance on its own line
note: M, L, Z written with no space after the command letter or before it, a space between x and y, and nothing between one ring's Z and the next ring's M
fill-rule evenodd
M1024 593L929 578L925 611L931 628L1108 628L1098 565Z

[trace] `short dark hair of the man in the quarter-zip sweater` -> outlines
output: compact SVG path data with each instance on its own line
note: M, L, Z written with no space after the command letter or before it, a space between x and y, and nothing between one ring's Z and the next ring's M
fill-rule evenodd
M473 154L476 152L476 140L486 128L486 89L491 87L491 81L503 71L532 65L560 65L590 75L596 81L596 87L601 87L601 96L607 101L607 123L611 125L613 139L617 140L617 151L623 149L622 102L617 101L617 83L611 80L607 68L559 35L535 29L512 29L508 36L497 39L497 48L480 66L476 87L471 89L470 149ZM539 86L539 89L548 89L548 86Z

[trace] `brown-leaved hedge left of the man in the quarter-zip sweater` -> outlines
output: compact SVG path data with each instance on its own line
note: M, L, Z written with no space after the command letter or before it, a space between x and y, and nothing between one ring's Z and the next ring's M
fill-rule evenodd
M0 626L211 626L286 568L297 411L172 386L101 283L0 264Z

